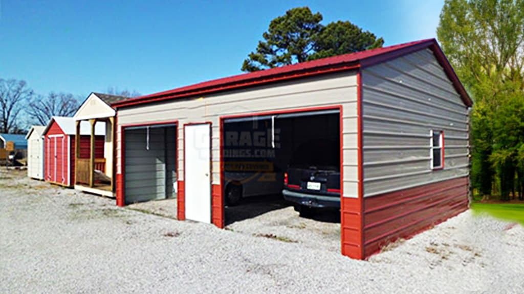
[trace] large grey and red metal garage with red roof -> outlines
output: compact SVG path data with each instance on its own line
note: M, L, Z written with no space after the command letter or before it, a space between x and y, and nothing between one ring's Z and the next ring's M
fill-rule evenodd
M339 109L341 250L363 259L467 209L471 105L434 39L124 100L112 104L117 205L128 202L126 126L179 122L178 218L223 228L224 123Z

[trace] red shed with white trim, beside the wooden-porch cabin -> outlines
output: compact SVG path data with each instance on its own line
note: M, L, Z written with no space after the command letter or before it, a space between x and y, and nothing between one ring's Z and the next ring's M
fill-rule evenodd
M80 158L89 159L90 128L84 122L80 127ZM45 136L44 175L46 182L72 187L74 184L74 142L75 120L71 117L52 117L43 131ZM95 129L95 157L104 158L105 126L101 123Z

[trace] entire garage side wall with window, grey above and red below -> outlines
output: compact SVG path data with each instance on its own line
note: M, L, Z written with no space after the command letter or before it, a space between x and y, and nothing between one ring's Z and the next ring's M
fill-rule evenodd
M468 110L432 51L362 72L365 256L467 209ZM431 130L444 167L431 168Z

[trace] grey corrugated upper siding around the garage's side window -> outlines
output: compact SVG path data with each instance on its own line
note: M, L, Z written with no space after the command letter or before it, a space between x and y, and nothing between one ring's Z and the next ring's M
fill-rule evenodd
M467 108L430 50L362 72L364 196L468 175ZM444 131L431 170L430 130Z

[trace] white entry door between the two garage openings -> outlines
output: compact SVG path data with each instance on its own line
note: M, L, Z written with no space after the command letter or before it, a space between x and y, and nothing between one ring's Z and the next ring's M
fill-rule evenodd
M185 218L211 223L211 125L184 126Z

